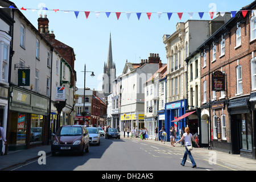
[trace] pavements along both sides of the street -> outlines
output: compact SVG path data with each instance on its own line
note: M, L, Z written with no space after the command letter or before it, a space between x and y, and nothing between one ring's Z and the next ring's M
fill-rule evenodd
M170 142L161 144L160 141L155 141L154 139L142 140L141 138L125 138L121 135L121 139L129 140L140 140L145 143L154 143L161 146L172 148ZM184 151L184 147L180 144L176 144L175 150ZM15 166L26 164L32 160L37 160L42 154L40 151L44 151L46 154L51 154L51 145L39 146L34 148L29 148L20 151L9 151L7 155L0 156L0 171L7 171ZM192 155L200 155L201 158L207 160L210 164L217 164L224 166L233 171L256 171L256 160L243 158L240 155L228 154L216 150L208 150L208 148L193 148Z

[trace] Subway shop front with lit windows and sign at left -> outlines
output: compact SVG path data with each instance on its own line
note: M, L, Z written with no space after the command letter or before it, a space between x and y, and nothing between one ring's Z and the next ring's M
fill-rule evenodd
M20 150L47 142L48 98L11 86L8 150Z

